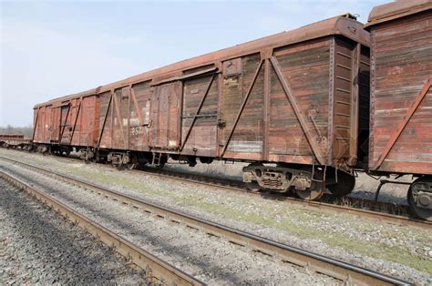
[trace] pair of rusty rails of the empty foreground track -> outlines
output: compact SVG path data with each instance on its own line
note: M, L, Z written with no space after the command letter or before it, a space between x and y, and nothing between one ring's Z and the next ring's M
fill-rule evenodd
M355 284L408 284L408 282L406 281L402 281L376 271L366 270L364 268L357 267L353 264L349 264L341 260L334 260L332 258L328 258L308 250L301 250L274 240L264 239L251 233L247 233L242 230L235 230L219 223L212 222L210 220L203 220L201 218L182 213L175 209L159 206L144 199L137 199L132 196L122 194L118 191L98 186L85 180L75 179L67 175L60 174L58 172L36 167L13 159L2 159L8 160L9 162L17 164L21 167L35 170L36 172L45 174L46 176L62 180L64 182L67 182L68 184L76 185L80 188L90 190L109 199L118 200L122 203L128 204L130 207L151 213L159 218L183 224L190 229L205 231L207 234L210 234L212 236L220 237L221 239L228 240L236 245L240 245L254 251L261 252L265 255L273 257L273 259L275 260L281 260L283 262L288 262L297 266L301 266L306 271L322 273L324 275L333 277L334 279L337 279L339 281L352 282ZM25 182L9 176L4 172L1 172L1 175L2 177L13 181L20 188L26 189L27 191L35 195L38 199L45 201L48 205L53 206L54 209L59 209L59 211L65 216L67 216L69 220L73 220L76 221L78 224L81 224L82 227L87 228L94 236L98 237L99 240L104 241L108 245L116 245L116 250L119 250L121 254L133 259L132 261L137 265L139 265L139 263L143 263L143 257L147 257L146 260L149 260L149 257L151 258L150 260L156 260L156 258L151 256L149 253L146 253L145 250L140 250L139 252L139 248L131 245L128 240L121 239L114 233L110 233L109 230L106 230L101 226L96 226L95 224L92 224L91 221L88 220L86 217L77 214L76 211L74 211L73 209L69 209L67 206L59 203L55 199L51 198L49 195L46 196L46 194L44 194L42 191L34 189L31 186L27 185ZM112 238L114 238L114 242ZM148 256L145 256L146 254ZM162 264L164 263L159 262L157 263L157 266L159 266L160 268L160 265ZM168 269L170 269L170 271ZM166 274L166 272L168 271L169 273L171 273L172 270L172 267L166 267L159 270L159 272L163 273L164 275L168 275ZM194 280L192 277L179 270L174 269L174 272L177 273L176 277L180 276L180 278L183 279L181 281L182 283L200 283L200 281ZM180 278L177 279L179 280Z

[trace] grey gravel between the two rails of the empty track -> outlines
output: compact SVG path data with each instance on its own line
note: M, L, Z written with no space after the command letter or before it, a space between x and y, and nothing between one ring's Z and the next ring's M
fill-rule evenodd
M2 169L36 188L43 188L69 207L201 281L213 285L340 282L324 275L307 273L292 264L275 261L262 253L209 236L203 231L161 220L121 202L28 169L16 166L4 166Z

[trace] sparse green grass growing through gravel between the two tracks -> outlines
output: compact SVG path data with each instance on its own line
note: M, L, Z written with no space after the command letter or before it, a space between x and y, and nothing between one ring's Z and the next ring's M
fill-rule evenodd
M41 158L31 158L37 164L46 165L46 161ZM56 161L57 163L57 161ZM56 165L53 164L53 165ZM58 162L58 164L64 164ZM50 166L51 169L56 169L56 166ZM94 180L108 186L124 187L133 189L144 194L159 196L160 198L169 198L177 202L189 205L195 209L204 210L209 213L219 214L227 219L242 220L249 223L259 224L266 227L271 227L277 230L283 230L300 239L319 239L331 247L337 247L345 250L355 251L359 254L394 261L418 271L424 271L432 274L432 261L427 258L411 254L409 250L403 246L388 247L383 243L376 241L365 241L359 238L350 238L348 235L334 230L316 228L317 221L332 221L334 220L332 211L324 211L323 209L305 209L298 206L290 206L290 208L275 207L277 202L264 201L256 206L256 211L242 211L242 208L234 208L233 206L251 206L251 199L247 196L236 196L235 199L227 198L225 202L215 203L209 201L205 193L202 193L201 198L197 198L197 191L186 189L182 192L170 192L167 190L156 190L148 186L144 182L130 178L129 174L113 173L104 174L102 172L89 172L81 167L69 165L67 169L62 165L65 173L70 173L79 178ZM160 187L159 187L160 188ZM280 204L279 204L280 206ZM350 215L339 214L337 220L350 221L355 220ZM348 226L349 227L349 226ZM355 230L361 232L373 232L376 230L373 222L364 221L362 224L353 226ZM424 245L432 244L431 231L398 228L395 229L384 226L379 229L382 236L385 237L413 237L417 242Z

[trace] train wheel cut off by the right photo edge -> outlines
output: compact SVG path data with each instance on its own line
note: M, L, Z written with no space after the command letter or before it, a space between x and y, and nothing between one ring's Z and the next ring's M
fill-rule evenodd
M430 196L424 193L432 192L432 177L416 179L408 189L407 200L409 208L422 220L432 221L432 201ZM422 196L421 193L424 195ZM421 197L420 197L421 196ZM417 203L418 201L418 203ZM422 208L420 205L424 205Z

